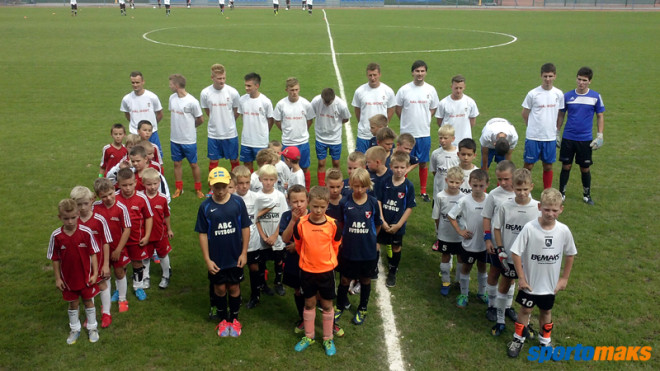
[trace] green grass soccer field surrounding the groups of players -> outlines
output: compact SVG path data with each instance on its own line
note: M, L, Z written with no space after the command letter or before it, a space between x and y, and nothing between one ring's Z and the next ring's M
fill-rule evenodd
M431 206L419 198L409 219L397 286L372 292L363 326L340 319L346 336L336 339L335 357L326 357L320 346L303 353L293 350L299 337L293 333L297 313L291 290L285 297L262 296L255 309L243 306L243 335L218 338L215 323L206 319L208 281L193 231L200 202L194 197L187 166L186 193L170 205L175 233L170 287L158 290L154 285L144 302L129 293L130 311L119 314L113 306L113 324L100 331L99 343L88 343L83 333L77 344L67 346L67 305L54 287L46 259L50 233L61 225L57 202L75 185L92 186L101 149L111 139L111 125L127 124L119 104L131 91L133 70L144 74L145 88L164 105L159 133L165 175L173 185L167 145L168 76L183 74L188 92L199 98L199 92L211 84L213 63L225 65L227 83L241 94L243 76L261 74L261 92L273 104L286 96L284 83L289 76L300 80L301 95L309 100L325 87L339 94L340 78L350 104L355 89L366 82L369 62L380 63L381 80L396 91L411 81L412 62L423 59L429 65L426 81L441 98L450 94L453 75L466 77L465 93L475 99L481 113L472 132L475 138L492 117L507 118L524 137L520 104L530 89L540 85L543 63L557 65L555 86L564 92L575 88L578 68L592 67L591 88L601 93L607 109L605 145L594 153L596 205L582 203L577 167L568 186L560 219L573 231L578 255L567 290L555 303L553 342L652 346L657 352L660 13L494 9L327 9L324 13L318 8L309 16L293 7L278 16L266 8L237 8L220 16L217 8L174 7L165 17L164 9L142 7L128 9L128 16L121 17L117 8L91 5L80 5L78 13L71 17L68 4L0 8L0 297L4 298L0 369L382 370L390 365L377 306L381 295L391 295L406 369L538 367L526 359L534 341L528 341L519 359L506 356L513 323L507 321L505 334L493 338L492 324L484 316L486 307L474 296L467 309L460 310L455 306L457 292L447 298L440 295L440 255L430 250ZM355 118L351 123L354 136ZM391 127L398 132L396 117ZM313 130L311 134L313 138ZM274 127L271 138L280 136ZM434 134L432 141L435 148ZM198 129L198 143L200 167L206 169L206 125ZM522 145L513 156L522 165ZM229 166L228 161L221 164ZM345 172L343 159L342 166ZM533 172L536 199L542 188L540 170L539 164ZM559 170L555 164L555 187ZM417 171L409 178L418 189ZM151 271L152 277L160 274L158 266L152 265ZM247 280L242 287L246 303ZM471 295L475 291L473 278ZM354 306L356 299L351 297ZM100 300L96 302L98 308ZM655 352L650 361L626 362L625 367L658 369ZM621 368L621 362L592 363L560 362L555 367Z

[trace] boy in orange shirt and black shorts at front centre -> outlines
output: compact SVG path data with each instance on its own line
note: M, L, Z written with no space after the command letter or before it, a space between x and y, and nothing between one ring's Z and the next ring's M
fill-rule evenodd
M332 329L335 298L335 272L337 253L341 244L342 230L338 222L327 216L330 192L325 187L313 187L309 191L309 214L301 216L293 230L296 252L300 255L300 282L305 309L303 321L305 336L296 344L301 352L314 344L314 320L316 318L316 294L320 294L323 309L323 348L328 356L335 355Z

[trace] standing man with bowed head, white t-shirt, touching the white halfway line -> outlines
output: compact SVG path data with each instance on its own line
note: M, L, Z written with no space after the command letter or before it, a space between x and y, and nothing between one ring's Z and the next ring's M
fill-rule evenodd
M325 159L330 151L332 167L339 168L341 158L342 126L351 118L351 113L343 99L335 96L335 91L325 88L312 99L316 115L314 134L316 137L316 158L318 159L317 178L320 186L325 185Z

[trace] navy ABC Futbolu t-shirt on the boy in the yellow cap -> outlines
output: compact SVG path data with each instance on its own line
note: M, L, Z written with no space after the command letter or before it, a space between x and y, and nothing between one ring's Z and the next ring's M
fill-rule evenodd
M243 228L252 222L245 202L236 195L230 195L224 204L209 197L197 212L195 232L206 233L209 241L209 258L220 269L234 268L243 252Z

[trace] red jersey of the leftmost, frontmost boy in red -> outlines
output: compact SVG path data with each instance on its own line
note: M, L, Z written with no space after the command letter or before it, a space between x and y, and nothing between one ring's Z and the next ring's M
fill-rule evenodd
M69 291L80 291L89 287L92 277L92 256L99 252L92 231L78 225L71 236L62 227L50 235L48 259L61 262L60 276ZM94 282L96 284L96 282Z

